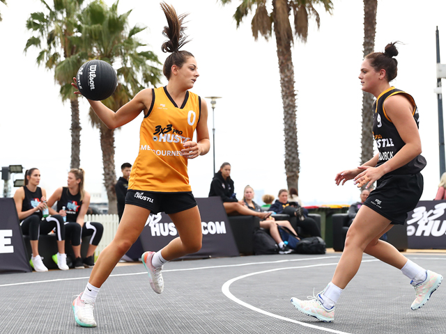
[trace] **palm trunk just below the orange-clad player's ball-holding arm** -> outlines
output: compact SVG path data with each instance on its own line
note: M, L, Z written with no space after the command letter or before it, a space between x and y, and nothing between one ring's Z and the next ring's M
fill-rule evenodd
M102 150L102 164L104 166L104 186L109 199L109 214L117 214L116 170L114 166L114 130L108 129L104 124L100 125L100 148Z

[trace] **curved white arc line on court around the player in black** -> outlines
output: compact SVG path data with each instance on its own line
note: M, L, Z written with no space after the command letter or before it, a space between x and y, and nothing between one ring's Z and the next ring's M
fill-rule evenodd
M374 262L374 261L379 261L379 260L362 260L361 262ZM310 328L315 328L318 329L320 331L325 331L325 332L330 332L330 333L337 333L337 334L350 334L350 333L346 333L346 332L341 332L341 331L336 331L334 329L330 329L330 328L325 328L325 327L321 327L321 326L316 326L313 324L307 324L305 322L301 322L301 321L297 321L294 319L289 319L286 317L282 317L282 315L275 315L274 313L262 310L261 308L256 308L255 306L245 303L245 301L240 301L240 299L238 299L236 296L234 296L233 294L231 294L231 292L229 291L229 286L236 282L236 280L241 280L243 278L247 278L249 276L253 276L253 275L257 275L259 273L270 273L271 271L279 271L279 270L288 270L288 269L302 269L302 268L313 268L313 267L324 267L324 266L334 266L337 265L336 263L323 263L323 264L312 264L309 266L301 266L301 267L288 267L288 268L276 268L276 269L270 269L270 270L264 270L264 271L257 271L256 273L247 273L246 275L242 275L242 276L238 276L236 278L232 278L231 280L228 280L226 283L224 283L224 285L222 285L222 292L223 294L228 297L229 299L231 299L231 301L235 301L236 303L245 306L245 308L249 308L250 310L253 310L255 312L259 312L263 315L268 315L269 317L273 317L276 319L281 319L284 321L289 321L292 322L293 324L299 324L305 327L310 327Z

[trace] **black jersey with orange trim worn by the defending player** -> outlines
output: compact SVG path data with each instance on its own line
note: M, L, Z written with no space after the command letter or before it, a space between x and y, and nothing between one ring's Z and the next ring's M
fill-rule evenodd
M394 87L390 87L381 93L381 95L378 96L378 99L374 102L375 114L373 132L379 152L378 164L376 164L376 166L380 166L386 161L392 159L392 157L394 157L394 155L397 154L397 152L399 152L404 145L406 145L403 139L401 139L401 136L399 136L397 127L395 127L392 120L387 117L384 109L384 101L387 99L387 97L396 94L404 95L412 103L413 118L415 119L415 122L417 122L417 127L420 126L418 108L411 95ZM388 175L415 174L419 173L425 166L426 159L424 159L424 157L420 154L412 161L409 161L408 164L401 166L396 170L392 170L392 172L388 173Z

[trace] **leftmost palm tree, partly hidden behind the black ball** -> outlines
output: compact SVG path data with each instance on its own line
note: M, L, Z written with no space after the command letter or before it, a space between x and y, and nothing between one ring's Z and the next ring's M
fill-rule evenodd
M33 31L33 35L26 42L24 51L29 47L40 49L37 57L38 65L45 65L48 70L55 70L57 65L65 58L70 58L79 52L79 40L75 35L77 26L76 17L80 13L84 0L54 0L51 8L44 0L40 0L47 10L47 14L31 13L26 21L26 28ZM79 102L70 86L72 77L82 65L82 55L72 58L70 66L66 66L66 75L56 74L55 77L61 86L63 101L70 100L71 105L71 163L70 168L80 166L80 120Z

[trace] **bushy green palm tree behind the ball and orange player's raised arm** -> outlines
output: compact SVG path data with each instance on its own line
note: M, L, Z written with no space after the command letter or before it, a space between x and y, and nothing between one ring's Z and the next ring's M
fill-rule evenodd
M82 50L88 59L101 59L119 66L118 86L115 93L103 103L112 110L118 110L129 102L139 90L149 84L160 83L161 70L157 56L151 51L139 51L145 47L136 37L146 27L133 26L129 29L128 16L118 14L118 1L108 8L102 1L93 1L79 16L79 32L82 35ZM72 58L78 58L73 56ZM68 58L60 64L75 63ZM91 125L100 131L100 146L104 167L104 185L109 200L109 213L116 214L116 170L114 162L114 129L108 129L90 109Z

